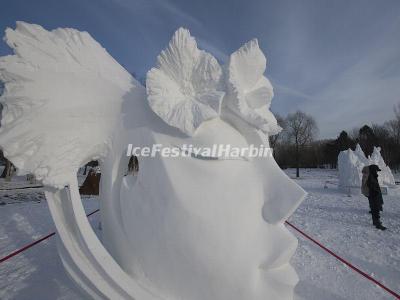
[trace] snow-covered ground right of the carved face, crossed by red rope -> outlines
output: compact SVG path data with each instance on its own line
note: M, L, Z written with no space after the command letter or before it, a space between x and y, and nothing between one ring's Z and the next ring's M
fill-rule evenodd
M294 170L287 172L294 178ZM296 180L307 199L289 221L335 253L400 292L400 197L384 196L384 232L372 226L368 200L337 190L337 172L302 170ZM327 188L325 188L325 186ZM293 231L294 232L294 231ZM312 242L294 232L299 247L292 263L300 276L299 299L394 299Z

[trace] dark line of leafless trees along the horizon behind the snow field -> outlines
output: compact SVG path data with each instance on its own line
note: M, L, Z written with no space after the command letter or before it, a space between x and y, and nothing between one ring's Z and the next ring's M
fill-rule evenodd
M337 168L340 151L355 149L360 144L365 155L372 154L374 147L381 147L381 154L394 171L400 168L400 104L394 107L394 118L382 124L366 124L343 130L336 139L316 139L318 126L315 119L302 111L287 117L277 115L282 131L270 137L274 157L283 169Z

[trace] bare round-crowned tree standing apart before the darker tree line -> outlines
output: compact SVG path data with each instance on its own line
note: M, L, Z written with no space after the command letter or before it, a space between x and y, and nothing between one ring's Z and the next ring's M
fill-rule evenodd
M296 177L300 176L300 148L311 143L318 133L314 118L302 111L289 114L286 118L286 135L296 150Z

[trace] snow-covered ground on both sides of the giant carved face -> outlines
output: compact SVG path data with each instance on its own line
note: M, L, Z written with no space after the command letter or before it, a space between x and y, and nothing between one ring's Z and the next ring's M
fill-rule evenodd
M294 177L294 170L287 173ZM337 190L336 171L302 170L296 181L309 195L289 221L399 293L400 197L385 196L382 221L388 230L382 232L371 225L366 198ZM0 182L0 257L54 231L42 188L27 186L23 178ZM98 207L95 197L83 202L87 212ZM98 215L90 221L98 232ZM299 238L292 259L300 277L296 300L394 299L290 230ZM65 274L52 237L0 265L0 299L83 298Z

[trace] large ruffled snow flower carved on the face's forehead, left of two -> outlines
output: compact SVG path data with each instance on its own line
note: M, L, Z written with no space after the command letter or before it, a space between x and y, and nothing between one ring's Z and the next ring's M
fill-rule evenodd
M202 122L219 116L221 78L217 60L180 28L147 73L147 99L165 123L192 136Z

